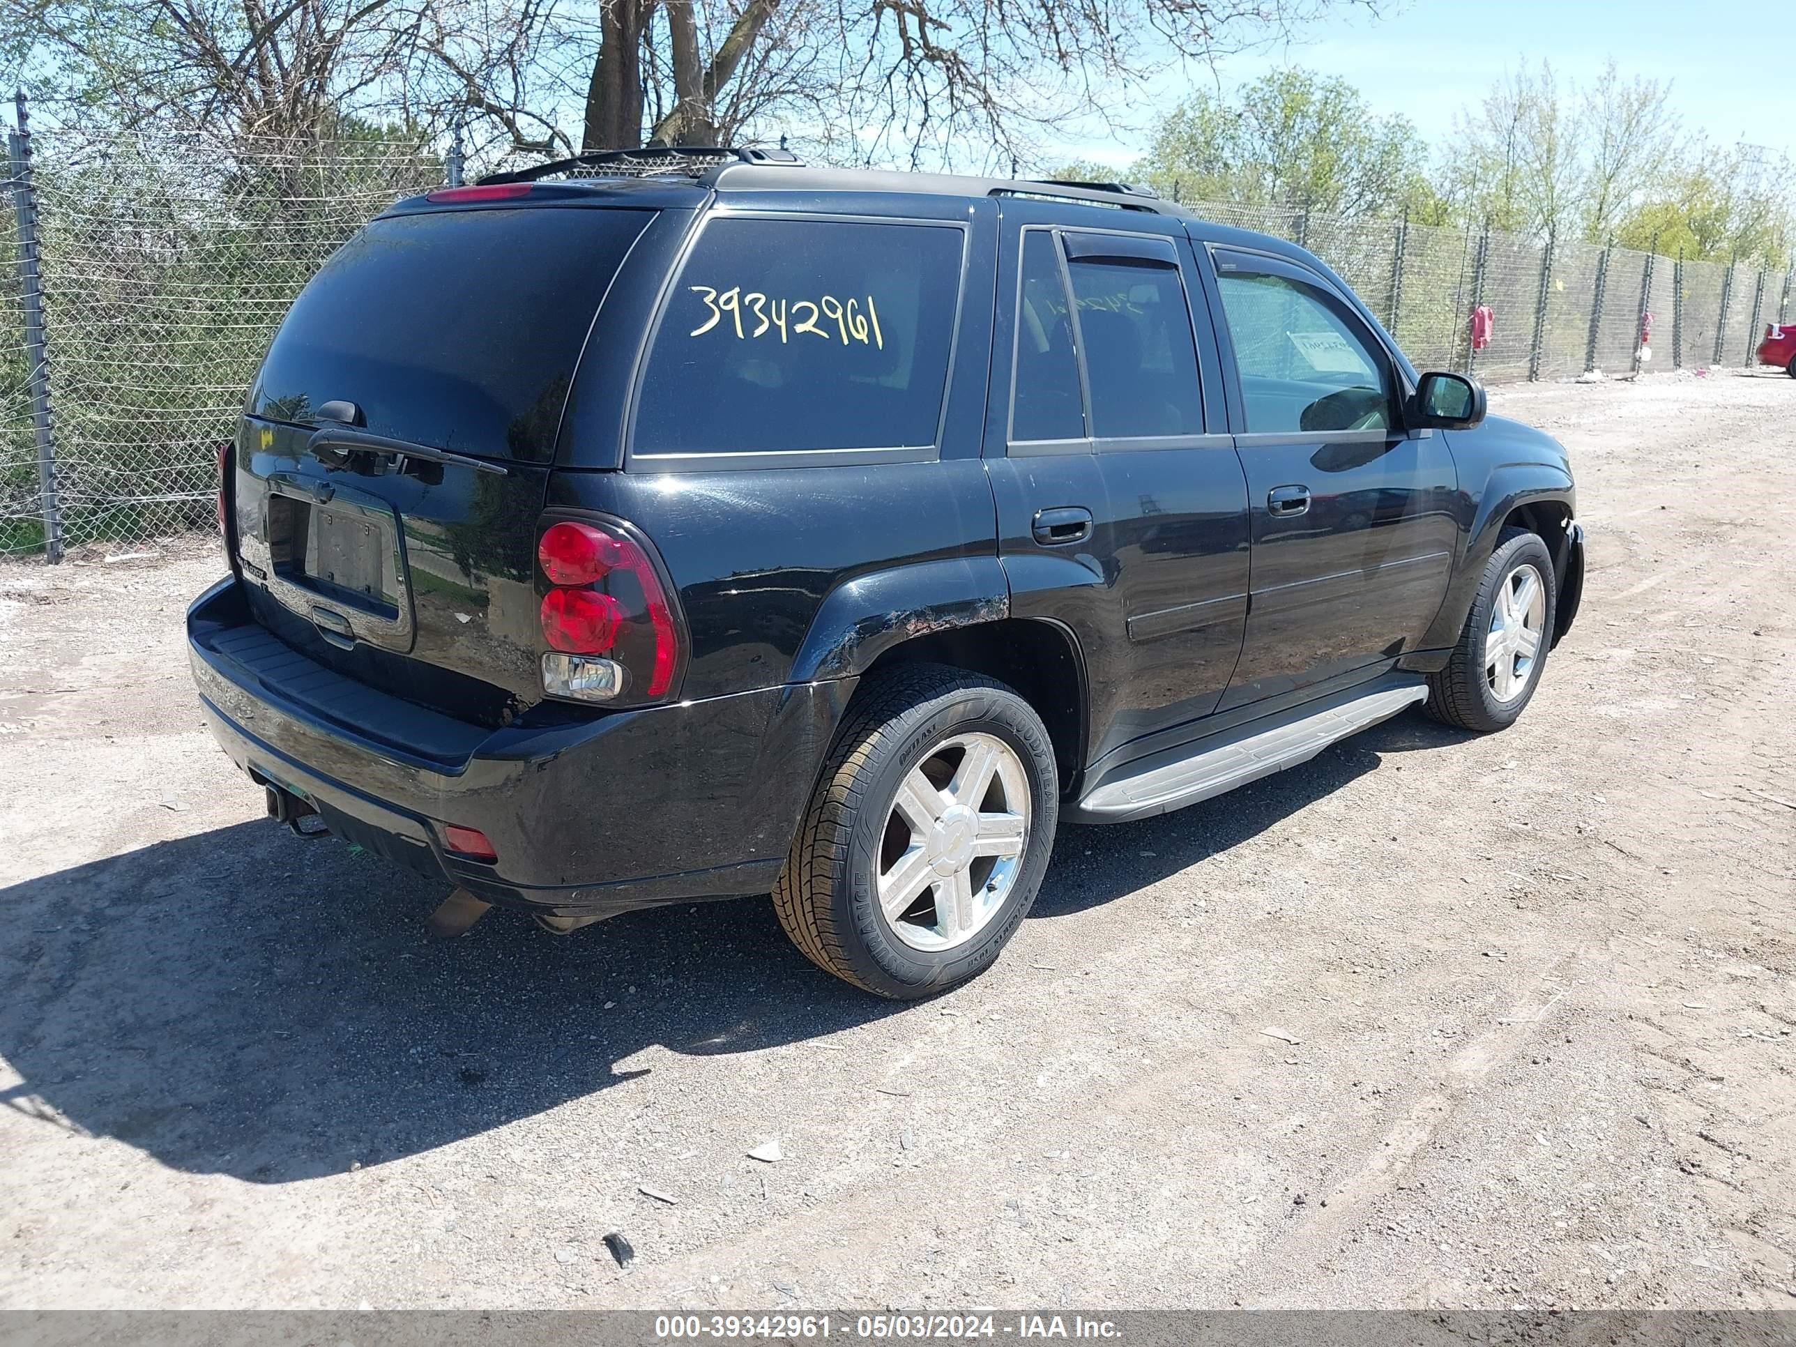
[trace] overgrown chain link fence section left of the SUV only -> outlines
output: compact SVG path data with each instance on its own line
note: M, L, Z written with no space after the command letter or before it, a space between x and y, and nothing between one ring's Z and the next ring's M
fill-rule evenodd
M0 551L54 559L212 528L217 445L300 287L444 172L442 156L379 140L14 135ZM47 357L27 336L34 313ZM54 472L40 472L45 438Z

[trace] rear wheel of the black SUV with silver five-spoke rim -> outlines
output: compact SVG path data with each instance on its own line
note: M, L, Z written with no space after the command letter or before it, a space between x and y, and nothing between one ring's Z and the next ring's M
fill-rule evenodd
M979 778L988 760L986 787L961 783L963 770ZM912 772L938 787L927 801ZM959 794L984 794L966 805L957 783ZM1020 799L1026 810L1013 808ZM946 812L923 830L911 823L918 805ZM893 1000L945 991L984 972L1022 923L1058 817L1052 742L1022 697L977 674L902 666L850 704L774 887L774 911L792 943L846 982ZM981 846L1017 855L981 853L954 875L938 873ZM903 911L882 907L882 884L896 896L918 882L925 887Z

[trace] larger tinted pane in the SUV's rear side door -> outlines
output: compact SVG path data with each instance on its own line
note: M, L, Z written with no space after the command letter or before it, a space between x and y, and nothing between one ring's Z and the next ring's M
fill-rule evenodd
M1202 435L1198 348L1178 271L1114 260L1070 266L1092 435Z

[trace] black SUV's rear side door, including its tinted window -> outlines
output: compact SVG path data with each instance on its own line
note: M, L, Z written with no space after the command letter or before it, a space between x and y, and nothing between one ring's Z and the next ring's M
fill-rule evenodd
M1078 636L1094 765L1212 711L1246 612L1246 487L1189 248L1176 221L1114 219L1004 203L986 417L1011 611Z

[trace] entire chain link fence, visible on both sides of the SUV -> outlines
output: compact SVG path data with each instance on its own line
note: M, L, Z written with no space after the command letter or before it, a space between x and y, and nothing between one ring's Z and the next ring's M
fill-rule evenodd
M216 447L287 305L363 221L451 176L444 156L381 140L14 135L0 217L0 553L54 559L212 528ZM1489 383L1746 365L1764 325L1791 316L1791 275L1744 264L1273 207L1193 210L1307 246L1421 368ZM1475 343L1480 305L1491 325Z

